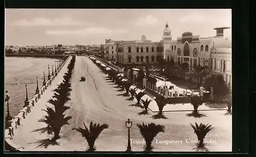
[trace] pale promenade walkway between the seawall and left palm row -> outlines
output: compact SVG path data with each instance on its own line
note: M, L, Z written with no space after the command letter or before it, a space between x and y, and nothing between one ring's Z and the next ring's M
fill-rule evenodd
M52 85L48 87L47 91L41 95L41 98L38 102L35 103L35 106L32 108L31 114L28 114L25 119L22 120L21 125L15 130L13 136L13 143L23 146L25 151L31 150L41 150L37 147L38 140L49 139L52 136L49 136L47 133L36 132L35 129L46 127L46 124L43 122L38 122L39 119L43 118L47 113L42 109L46 109L46 105L51 106L47 101L51 99L54 95L53 89L57 87L63 80L64 74L67 72L68 64L71 60L71 57L68 59L66 64L62 67L59 74L52 81Z

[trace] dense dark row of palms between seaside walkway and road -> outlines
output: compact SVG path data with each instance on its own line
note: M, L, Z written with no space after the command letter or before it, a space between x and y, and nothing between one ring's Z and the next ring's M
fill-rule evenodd
M57 86L56 89L53 90L54 96L48 101L52 106L47 106L47 109L43 109L46 111L47 115L38 120L39 122L44 122L47 124L45 130L48 134L54 134L54 137L51 139L52 141L56 141L60 139L59 133L60 129L63 125L68 125L69 120L72 118L71 116L66 116L65 111L69 109L69 106L65 104L71 100L69 98L71 88L71 77L72 71L75 65L75 55L72 56L72 59L68 65L68 72L63 76L64 80Z

